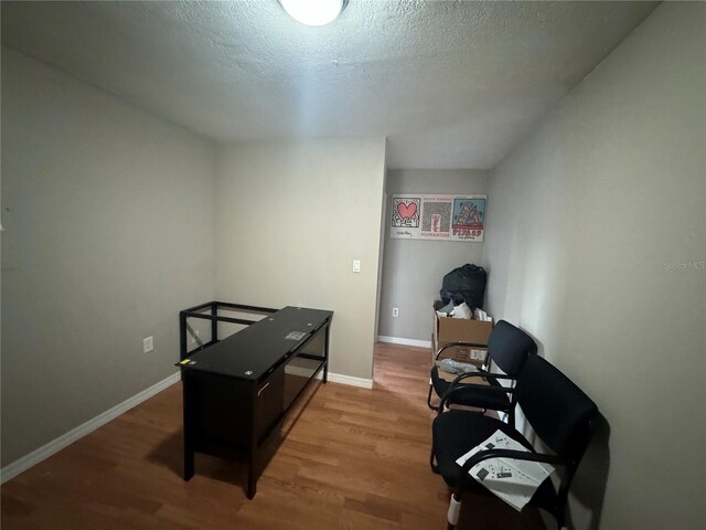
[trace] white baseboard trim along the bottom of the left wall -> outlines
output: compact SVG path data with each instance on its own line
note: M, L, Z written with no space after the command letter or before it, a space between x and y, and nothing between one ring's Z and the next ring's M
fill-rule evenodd
M0 469L0 484L4 484L8 480L17 477L21 473L26 471L29 468L38 465L40 462L49 458L55 453L58 453L63 448L68 447L71 444L83 438L88 433L92 433L96 428L115 420L120 414L124 414L133 406L137 406L143 401L149 400L153 395L160 393L162 390L171 386L180 380L181 373L176 372L169 378L160 381L159 383L153 384L149 389L146 389L142 392L133 395L132 398L124 401L122 403L114 406L113 409L107 410L103 414L97 415L93 420L88 420L86 423L78 425L76 428L61 435L58 438L53 439L49 444L43 445L36 451L33 451L29 455L14 460L12 464L8 464L6 467Z

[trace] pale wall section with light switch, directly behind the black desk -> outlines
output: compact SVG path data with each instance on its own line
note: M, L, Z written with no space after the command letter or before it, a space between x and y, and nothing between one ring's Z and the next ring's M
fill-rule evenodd
M384 174L384 138L222 147L216 297L335 311L330 370L370 380Z

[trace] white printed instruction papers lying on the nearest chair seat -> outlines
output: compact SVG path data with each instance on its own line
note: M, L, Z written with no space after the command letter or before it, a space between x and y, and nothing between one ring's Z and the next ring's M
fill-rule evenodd
M485 442L473 447L456 463L462 466L475 453L486 449L514 449L528 453L525 447L502 431L495 431ZM554 473L554 467L548 464L513 458L489 458L475 464L469 470L475 480L517 511L530 502L539 485L552 473Z

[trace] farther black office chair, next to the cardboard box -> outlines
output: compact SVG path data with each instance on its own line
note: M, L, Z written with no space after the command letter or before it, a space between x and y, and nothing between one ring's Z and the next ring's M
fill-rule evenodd
M478 348L478 344L471 344L468 342L451 342L446 344L437 351L435 360L443 358L445 351L456 346L473 347ZM522 329L516 328L512 324L505 320L499 320L493 331L488 339L488 358L485 367L491 369L492 364L495 364L505 374L516 377L522 370L527 358L537 352L537 344L535 344L532 337L525 333ZM486 373L480 370L481 374ZM457 378L458 381L459 378ZM495 389L488 391L488 388L478 386L471 388L467 392L457 396L456 404L473 406L475 409L493 410L510 412L511 399L505 392L496 392L500 386L498 380L486 379L489 386ZM431 380L429 382L429 395L427 396L427 405L429 409L436 411L437 406L431 404L431 394L436 394L441 398L451 388L452 382L446 381L439 375L439 369L436 363L431 368Z

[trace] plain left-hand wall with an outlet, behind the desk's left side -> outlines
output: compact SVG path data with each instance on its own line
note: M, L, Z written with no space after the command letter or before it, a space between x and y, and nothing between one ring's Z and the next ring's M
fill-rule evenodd
M3 465L176 371L213 172L206 141L2 50Z

